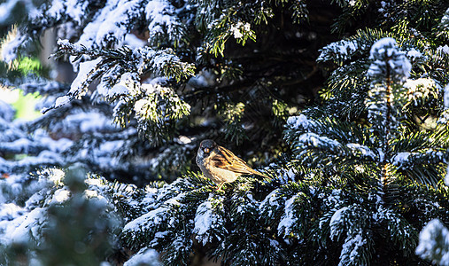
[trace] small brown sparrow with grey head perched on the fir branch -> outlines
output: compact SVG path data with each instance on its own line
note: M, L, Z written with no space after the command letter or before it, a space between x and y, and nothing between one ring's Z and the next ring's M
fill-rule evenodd
M211 139L205 139L199 144L197 165L206 177L218 184L217 191L220 191L223 184L236 181L238 176L264 176Z

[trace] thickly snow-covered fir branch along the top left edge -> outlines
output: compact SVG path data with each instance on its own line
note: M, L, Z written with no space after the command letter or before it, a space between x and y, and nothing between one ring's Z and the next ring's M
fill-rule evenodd
M126 35L139 27L148 28L148 42L153 47L161 44L176 47L186 39L183 13L194 10L190 2L176 8L166 0L107 0L98 4L73 0L51 2L30 12L29 27L4 50L5 59L15 59L19 48L25 46L30 37L51 27L65 28L58 33L60 37L79 37L76 44L89 49L120 47Z

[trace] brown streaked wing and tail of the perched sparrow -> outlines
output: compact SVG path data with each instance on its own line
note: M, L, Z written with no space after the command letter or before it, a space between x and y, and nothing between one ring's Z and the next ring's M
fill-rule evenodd
M242 175L259 175L263 176L258 171L250 168L244 160L238 158L234 153L227 148L218 146L217 156L213 156L213 166L217 168L226 169L228 171L236 172Z

